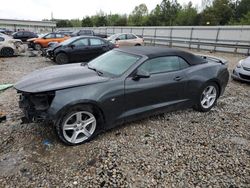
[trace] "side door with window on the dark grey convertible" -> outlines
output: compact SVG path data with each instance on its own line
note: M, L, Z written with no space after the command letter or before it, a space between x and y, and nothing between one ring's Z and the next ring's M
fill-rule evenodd
M144 112L176 107L185 102L187 76L185 66L180 65L179 57L166 56L151 59L142 64L138 70L150 73L148 78L125 80L124 117L137 116Z

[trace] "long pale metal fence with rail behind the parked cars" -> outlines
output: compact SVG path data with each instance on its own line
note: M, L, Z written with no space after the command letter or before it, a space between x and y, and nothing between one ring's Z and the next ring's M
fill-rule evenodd
M72 28L63 28L71 29ZM250 26L179 26L179 27L88 27L96 33L135 33L147 45L165 45L197 50L250 55Z

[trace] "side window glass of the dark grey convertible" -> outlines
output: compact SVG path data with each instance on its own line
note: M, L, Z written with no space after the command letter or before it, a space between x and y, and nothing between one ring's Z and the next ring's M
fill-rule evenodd
M151 74L177 71L188 67L189 64L178 56L166 56L150 59L139 67Z

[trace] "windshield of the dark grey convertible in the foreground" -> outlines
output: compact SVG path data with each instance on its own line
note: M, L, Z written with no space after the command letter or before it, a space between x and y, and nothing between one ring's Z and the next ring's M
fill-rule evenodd
M112 50L90 61L88 66L103 73L120 76L140 58L141 56Z

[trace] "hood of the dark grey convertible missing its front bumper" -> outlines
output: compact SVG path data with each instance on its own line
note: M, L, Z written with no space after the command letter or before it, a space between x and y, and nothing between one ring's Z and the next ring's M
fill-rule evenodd
M32 72L15 84L21 92L40 93L108 81L109 78L81 66L81 63L57 65Z

